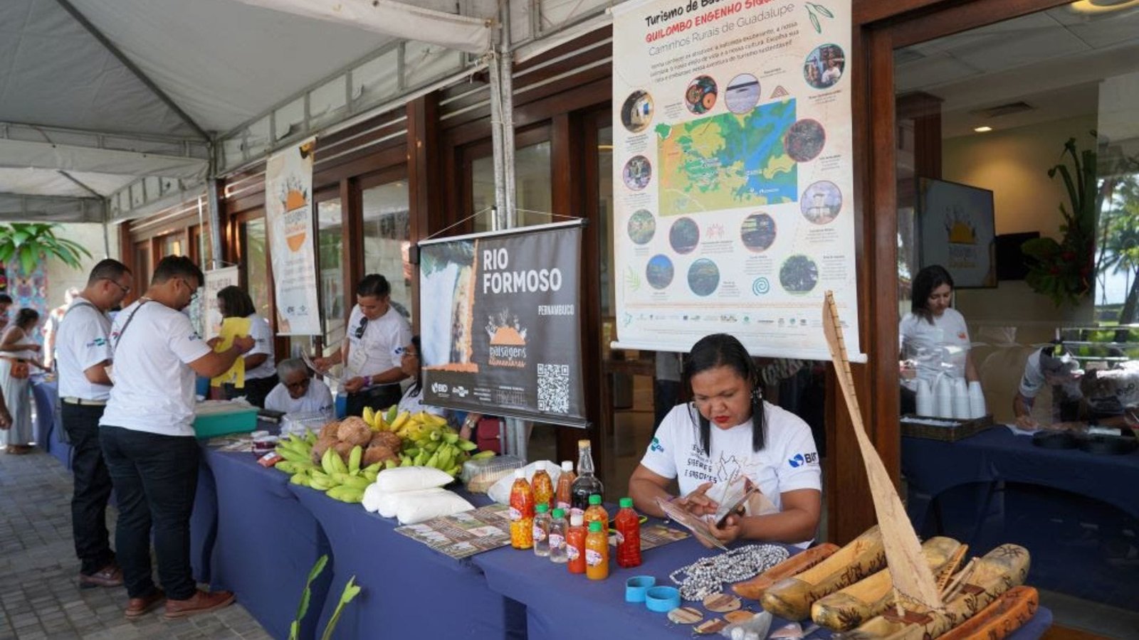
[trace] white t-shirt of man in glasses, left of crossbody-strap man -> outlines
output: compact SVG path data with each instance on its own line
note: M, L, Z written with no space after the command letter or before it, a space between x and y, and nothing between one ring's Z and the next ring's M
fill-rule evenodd
M110 319L93 304L76 297L56 329L56 364L59 396L106 401L109 385L87 379L91 367L110 360Z

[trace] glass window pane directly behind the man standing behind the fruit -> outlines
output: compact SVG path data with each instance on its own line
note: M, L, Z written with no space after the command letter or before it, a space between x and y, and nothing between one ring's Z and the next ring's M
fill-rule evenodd
M411 321L412 265L411 216L408 210L408 182L398 180L364 189L363 270L379 273L392 284L392 304Z

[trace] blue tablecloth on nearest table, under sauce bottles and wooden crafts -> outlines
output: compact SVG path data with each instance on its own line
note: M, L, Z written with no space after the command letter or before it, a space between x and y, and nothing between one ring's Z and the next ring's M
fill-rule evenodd
M526 606L526 625L531 638L542 640L580 640L581 638L691 638L690 625L673 624L664 614L649 612L642 604L625 602L625 580L634 575L652 575L656 583L671 585L669 574L698 558L713 555L693 539L650 549L641 555L641 566L625 569L611 565L609 577L590 581L571 574L565 565L555 565L531 551L495 549L474 556L491 589ZM697 602L686 602L698 609ZM759 605L755 605L755 610ZM704 612L707 620L713 614ZM787 624L777 618L771 629ZM1040 638L1051 625L1051 613L1041 608L1030 623L1010 638ZM820 630L809 638L829 638Z

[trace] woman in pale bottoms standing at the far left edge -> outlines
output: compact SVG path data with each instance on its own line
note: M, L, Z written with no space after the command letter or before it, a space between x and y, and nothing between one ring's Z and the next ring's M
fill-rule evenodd
M43 369L36 353L40 345L31 339L40 313L21 309L11 325L0 336L0 393L11 413L10 426L0 428L0 446L7 453L32 452L32 386L30 364Z

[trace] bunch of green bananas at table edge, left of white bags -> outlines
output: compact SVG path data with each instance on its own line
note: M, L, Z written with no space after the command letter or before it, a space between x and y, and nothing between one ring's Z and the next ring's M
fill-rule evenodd
M292 475L290 483L323 491L329 498L341 502L363 500L363 490L376 482L376 475L383 469L379 462L360 467L362 446L352 448L346 463L334 449L328 449L319 467L312 463L311 451L312 443L308 438L289 436L277 444L277 452L285 459L277 462L274 468Z

